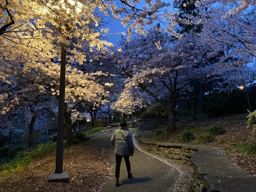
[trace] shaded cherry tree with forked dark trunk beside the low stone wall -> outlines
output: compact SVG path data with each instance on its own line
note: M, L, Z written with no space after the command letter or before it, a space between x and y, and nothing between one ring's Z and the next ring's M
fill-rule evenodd
M207 65L210 47L197 35L175 39L151 30L147 36L137 36L124 44L122 54L130 57L116 61L127 75L126 89L138 87L166 109L168 133L175 130L174 108L179 95L191 91L188 82L212 74ZM163 101L167 99L167 103Z

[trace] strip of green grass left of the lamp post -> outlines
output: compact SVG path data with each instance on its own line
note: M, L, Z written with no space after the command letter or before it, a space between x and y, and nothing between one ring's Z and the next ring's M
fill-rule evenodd
M46 154L54 153L56 149L55 142L49 142L38 145L33 151L19 151L13 161L0 165L0 182L17 174L25 169L34 158L44 156Z

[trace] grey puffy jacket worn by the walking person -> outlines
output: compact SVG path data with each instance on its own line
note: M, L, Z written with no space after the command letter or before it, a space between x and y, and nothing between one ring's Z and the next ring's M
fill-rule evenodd
M132 153L134 153L132 135L126 127L120 127L113 133L111 143L115 147L115 155L130 156L131 153L128 150L128 146L131 148Z

